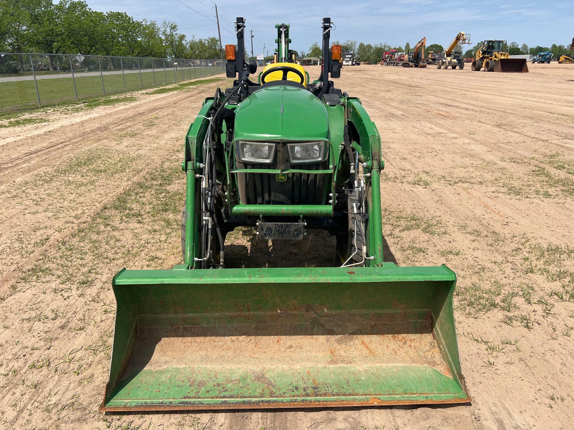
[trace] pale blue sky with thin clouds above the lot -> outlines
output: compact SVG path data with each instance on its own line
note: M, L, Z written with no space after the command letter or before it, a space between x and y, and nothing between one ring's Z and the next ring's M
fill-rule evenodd
M182 33L196 38L217 36L215 10L210 0L87 0L99 11L125 11L136 19L175 22ZM291 48L301 51L320 41L321 18L330 16L336 25L332 40L352 39L375 44L387 42L393 46L414 45L423 36L426 44L448 45L456 33L471 34L471 46L484 39L505 39L529 46L550 46L572 40L574 28L573 0L216 0L219 10L223 44L234 43L236 16L246 18L247 30L255 35L254 52L273 52L277 22L291 25ZM206 18L208 17L208 18ZM567 17L560 21L560 17ZM250 51L246 38L247 50Z

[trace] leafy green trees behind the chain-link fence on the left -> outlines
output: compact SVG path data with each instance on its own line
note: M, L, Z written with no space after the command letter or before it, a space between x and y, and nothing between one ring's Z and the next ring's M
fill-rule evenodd
M83 0L0 0L0 52L220 58L216 37L188 40L173 22L102 13Z

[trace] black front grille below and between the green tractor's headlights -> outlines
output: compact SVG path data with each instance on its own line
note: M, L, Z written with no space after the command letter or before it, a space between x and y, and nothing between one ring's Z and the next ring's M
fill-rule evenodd
M246 165L236 162L238 169L325 170L329 161L320 164L291 165L285 145L277 145L272 165ZM290 173L278 181L272 173L238 173L239 201L244 205L323 205L328 194L331 174ZM279 177L279 179L282 179Z

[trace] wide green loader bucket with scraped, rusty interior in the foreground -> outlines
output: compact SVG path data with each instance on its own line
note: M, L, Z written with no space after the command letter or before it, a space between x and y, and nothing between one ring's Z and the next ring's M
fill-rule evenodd
M470 401L446 266L115 276L100 411Z

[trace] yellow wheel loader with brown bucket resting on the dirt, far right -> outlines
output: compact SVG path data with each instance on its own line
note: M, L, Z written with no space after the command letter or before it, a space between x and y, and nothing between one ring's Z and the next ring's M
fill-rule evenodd
M510 58L506 40L485 40L476 51L471 69L485 72L528 73L526 58Z

